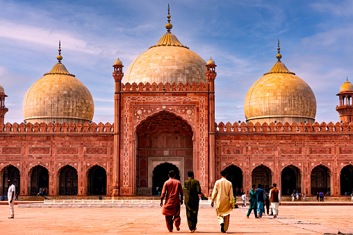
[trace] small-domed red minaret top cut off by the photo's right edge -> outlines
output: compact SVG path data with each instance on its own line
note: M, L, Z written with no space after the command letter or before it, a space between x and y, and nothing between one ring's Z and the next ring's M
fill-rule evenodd
M340 87L340 92L336 94L340 98L340 105L336 106L336 111L340 114L340 121L351 123L353 121L353 85L348 81Z

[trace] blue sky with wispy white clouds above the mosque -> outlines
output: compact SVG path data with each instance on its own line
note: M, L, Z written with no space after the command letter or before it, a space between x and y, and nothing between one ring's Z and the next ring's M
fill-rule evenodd
M23 121L29 87L63 64L88 87L96 123L113 123L113 63L124 71L165 33L217 64L215 119L245 121L248 89L277 59L313 90L315 120L339 121L340 86L353 81L353 1L3 1L0 0L0 85L8 95L5 122Z

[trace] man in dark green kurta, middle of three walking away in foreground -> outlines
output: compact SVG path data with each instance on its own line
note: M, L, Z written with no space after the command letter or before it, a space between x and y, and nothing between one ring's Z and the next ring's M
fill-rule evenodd
M199 211L199 195L201 194L201 187L197 180L194 179L194 172L188 172L188 180L185 182L185 206L186 218L190 232L195 232L197 224L197 212Z

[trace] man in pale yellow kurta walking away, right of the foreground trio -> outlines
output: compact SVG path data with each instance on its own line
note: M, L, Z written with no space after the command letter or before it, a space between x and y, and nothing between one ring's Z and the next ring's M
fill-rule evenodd
M229 217L233 211L233 187L227 177L227 171L221 171L221 179L215 182L213 188L211 206L214 202L216 205L216 213L218 222L221 225L221 232L227 232L229 227Z

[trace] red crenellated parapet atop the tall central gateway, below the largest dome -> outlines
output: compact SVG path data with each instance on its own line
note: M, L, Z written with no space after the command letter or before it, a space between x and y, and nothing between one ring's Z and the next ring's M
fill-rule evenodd
M180 82L179 84L173 82L170 84L169 82L167 83L159 83L157 84L156 82L153 82L152 84L147 83L142 83L140 82L139 84L136 84L136 82L133 82L130 84L129 82L126 82L125 84L122 84L122 92L131 92L131 91L138 91L138 92L207 92L208 91L208 84L207 83L188 83L186 82L183 84Z

